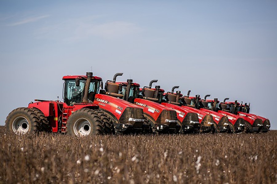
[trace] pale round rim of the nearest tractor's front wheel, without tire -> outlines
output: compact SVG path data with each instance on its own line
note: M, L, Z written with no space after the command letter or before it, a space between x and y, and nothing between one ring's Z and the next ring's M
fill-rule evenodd
M74 133L77 136L87 136L91 132L91 125L85 118L78 119L74 124Z

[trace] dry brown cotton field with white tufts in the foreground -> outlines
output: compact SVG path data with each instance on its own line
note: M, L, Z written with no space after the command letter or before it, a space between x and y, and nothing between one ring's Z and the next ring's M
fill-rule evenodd
M0 129L0 183L274 183L277 131L16 136Z

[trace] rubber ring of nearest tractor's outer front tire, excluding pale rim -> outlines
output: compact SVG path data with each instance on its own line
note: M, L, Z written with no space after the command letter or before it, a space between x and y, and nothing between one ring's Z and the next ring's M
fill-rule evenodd
M89 135L101 135L104 133L105 130L103 127L103 123L101 122L101 117L98 116L95 110L79 109L74 113L72 113L67 120L67 124L66 124L67 134L77 136L74 133L74 124L80 118L85 118L89 121L91 125L91 132L89 133Z

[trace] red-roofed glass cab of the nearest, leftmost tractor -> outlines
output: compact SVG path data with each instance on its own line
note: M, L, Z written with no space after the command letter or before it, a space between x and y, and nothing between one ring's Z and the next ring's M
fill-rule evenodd
M93 103L95 94L99 93L100 87L102 87L102 78L92 76L91 72L88 73L91 79L86 93L85 84L88 75L67 75L62 78L64 80L63 99L67 105Z

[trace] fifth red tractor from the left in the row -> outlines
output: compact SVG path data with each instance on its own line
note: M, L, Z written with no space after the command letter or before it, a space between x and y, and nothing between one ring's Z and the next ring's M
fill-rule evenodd
M220 113L217 113L217 112L213 111L213 109L210 109L208 107L205 108L205 106L202 104L203 100L201 100L200 95L196 95L195 97L189 97L189 92L190 92L190 90L188 91L188 97L186 97L186 98L191 99L190 106L194 106L196 109L199 109L205 113L212 115L213 120L216 123L215 127L218 129L217 131L229 132L229 133L235 132L235 128L230 123L230 121L228 121L228 117L226 117Z

